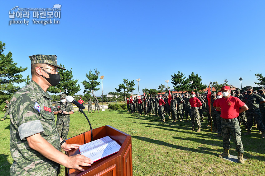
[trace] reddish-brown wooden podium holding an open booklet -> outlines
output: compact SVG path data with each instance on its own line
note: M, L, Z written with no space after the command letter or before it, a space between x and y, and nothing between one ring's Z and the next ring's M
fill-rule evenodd
M81 166L85 171L65 168L66 176L132 176L132 137L109 125L95 128L92 130L93 140L109 136L121 145L118 153L110 155L102 160L96 161L90 167ZM65 140L71 144L85 144L91 141L90 130ZM65 152L66 155L72 156L79 153L79 149Z

